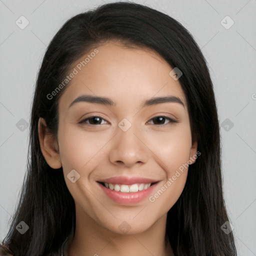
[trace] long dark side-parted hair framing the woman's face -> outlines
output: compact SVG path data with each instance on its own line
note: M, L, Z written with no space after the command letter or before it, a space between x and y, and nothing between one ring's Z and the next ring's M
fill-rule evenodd
M30 117L28 165L18 206L3 243L16 255L57 255L75 230L75 204L62 167L52 169L39 145L38 119L54 136L58 99L48 99L74 62L109 40L148 47L182 71L179 82L186 97L192 140L201 155L189 165L184 189L167 213L166 235L175 255L236 255L222 192L221 148L217 108L206 60L191 34L175 19L132 2L98 6L67 20L52 38L37 76ZM29 229L22 235L16 225Z

